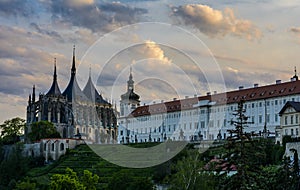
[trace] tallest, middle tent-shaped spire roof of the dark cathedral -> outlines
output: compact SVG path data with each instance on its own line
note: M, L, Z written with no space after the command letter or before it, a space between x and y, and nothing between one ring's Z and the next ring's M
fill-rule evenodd
M71 79L69 81L67 88L65 89L65 91L63 92L62 95L66 96L67 100L69 102L72 102L73 98L75 98L75 96L73 96L73 94L77 94L79 96L82 95L82 91L76 80L75 46L73 47L73 62L72 62L72 68L71 68Z

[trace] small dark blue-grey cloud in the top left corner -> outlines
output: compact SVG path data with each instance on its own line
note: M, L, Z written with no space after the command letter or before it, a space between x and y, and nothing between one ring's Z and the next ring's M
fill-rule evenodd
M0 0L1 15L28 17L33 13L32 5L27 0Z

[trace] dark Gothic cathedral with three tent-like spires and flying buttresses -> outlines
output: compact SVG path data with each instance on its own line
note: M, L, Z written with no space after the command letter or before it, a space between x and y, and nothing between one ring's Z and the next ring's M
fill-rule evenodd
M35 86L29 95L25 137L31 132L31 124L49 121L54 124L62 138L80 137L91 143L113 143L117 138L117 118L113 105L103 99L92 82L91 74L80 89L76 79L75 47L71 77L61 92L54 63L53 82L46 94L36 100ZM26 139L28 141L28 139Z

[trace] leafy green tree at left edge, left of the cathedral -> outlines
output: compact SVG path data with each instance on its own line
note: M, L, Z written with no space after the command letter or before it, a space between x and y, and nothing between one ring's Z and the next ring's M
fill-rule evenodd
M6 144L12 144L19 141L20 135L25 127L25 120L19 117L6 120L0 125L1 138Z

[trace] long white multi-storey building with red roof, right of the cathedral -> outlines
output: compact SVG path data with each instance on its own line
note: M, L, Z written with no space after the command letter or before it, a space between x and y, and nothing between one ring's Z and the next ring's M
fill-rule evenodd
M279 136L275 128L280 126L280 110L288 101L300 101L296 71L290 81L276 80L275 84L266 86L241 86L234 91L208 92L204 96L174 98L136 108L130 105L135 102L129 101L127 109L130 112L124 112L118 120L118 142L226 139L230 135L228 130L234 129L231 121L235 120L234 112L241 100L245 101L245 114L251 123L245 127L247 132L265 137ZM121 108L123 102L121 96Z

